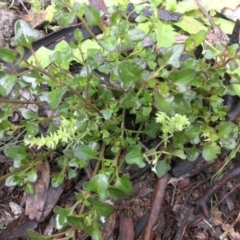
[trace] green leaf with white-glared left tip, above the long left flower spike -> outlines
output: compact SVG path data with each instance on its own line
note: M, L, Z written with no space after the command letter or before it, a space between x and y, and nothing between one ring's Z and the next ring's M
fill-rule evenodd
M60 104L63 94L66 92L66 88L57 88L49 92L42 92L40 100L49 104L50 109L54 110Z

